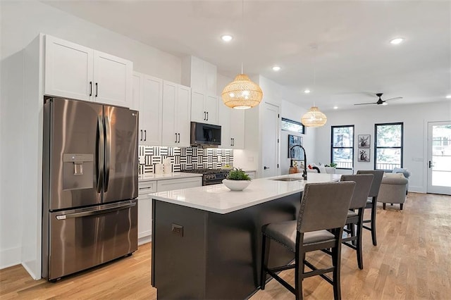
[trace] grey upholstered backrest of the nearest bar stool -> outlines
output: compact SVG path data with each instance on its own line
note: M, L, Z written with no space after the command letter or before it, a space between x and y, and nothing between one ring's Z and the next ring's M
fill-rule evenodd
M355 182L307 183L302 193L297 231L345 226Z

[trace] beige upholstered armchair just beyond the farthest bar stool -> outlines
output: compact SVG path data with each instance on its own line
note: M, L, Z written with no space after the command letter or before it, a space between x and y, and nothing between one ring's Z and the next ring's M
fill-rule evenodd
M400 204L402 210L402 205L406 200L408 183L409 180L402 173L385 173L378 194L378 202L383 204L383 209L385 209L385 204L389 203Z

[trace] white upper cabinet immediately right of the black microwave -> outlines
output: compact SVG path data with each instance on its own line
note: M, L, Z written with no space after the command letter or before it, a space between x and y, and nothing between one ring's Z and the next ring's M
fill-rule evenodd
M218 123L221 125L221 146L227 149L245 148L245 111L218 104Z

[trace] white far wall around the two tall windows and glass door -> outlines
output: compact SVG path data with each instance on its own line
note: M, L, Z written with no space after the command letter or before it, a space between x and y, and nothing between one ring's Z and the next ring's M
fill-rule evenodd
M357 162L357 144L354 148L354 171L372 170L374 166L374 124L404 123L404 168L412 175L409 178L409 191L426 192L427 187L427 122L451 120L451 102L433 104L414 104L410 106L369 106L352 111L328 111L328 121L316 131L316 158L321 162L330 161L330 126L354 125L354 138L357 135L371 135L369 163Z

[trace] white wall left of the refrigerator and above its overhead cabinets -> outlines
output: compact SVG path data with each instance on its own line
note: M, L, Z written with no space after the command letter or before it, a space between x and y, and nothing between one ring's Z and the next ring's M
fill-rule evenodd
M32 166L24 163L30 161L25 159L28 151L37 151L37 144L35 140L24 141L30 133L24 132L24 122L30 119L25 119L23 112L30 108L23 95L23 49L42 32L127 58L133 61L137 71L177 83L181 80L181 59L39 1L0 1L0 22L0 268L6 268L36 256L30 254L30 249L22 242L22 239L30 241L33 237L28 235L36 230L31 228L24 232L27 228L23 227L23 208L40 207L41 201L39 182L27 180ZM39 239L37 232L33 236ZM25 255L28 257L23 257ZM34 273L33 277L40 275L39 265Z

